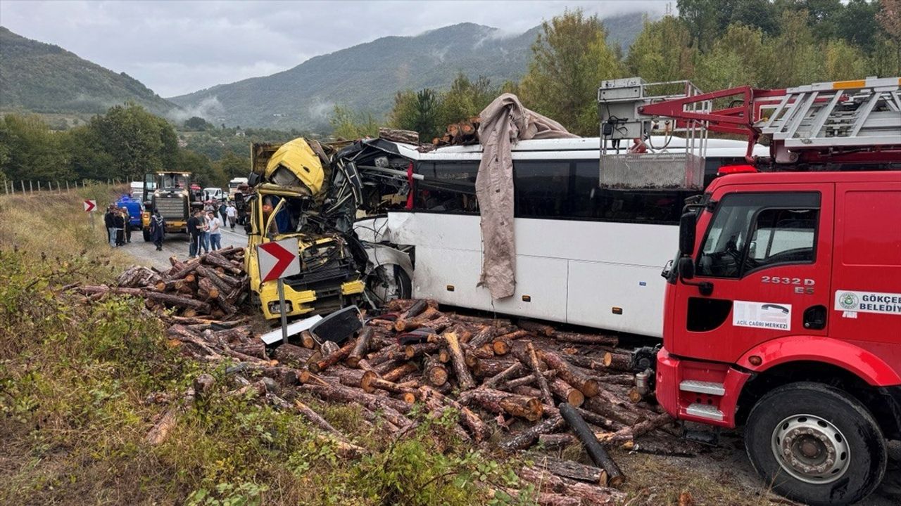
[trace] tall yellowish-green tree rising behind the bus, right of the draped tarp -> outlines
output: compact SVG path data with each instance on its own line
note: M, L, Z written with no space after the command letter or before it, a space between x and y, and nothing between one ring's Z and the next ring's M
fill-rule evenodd
M567 11L542 23L532 62L520 84L523 104L569 131L597 134L597 86L622 76L622 65L605 42L597 16Z

